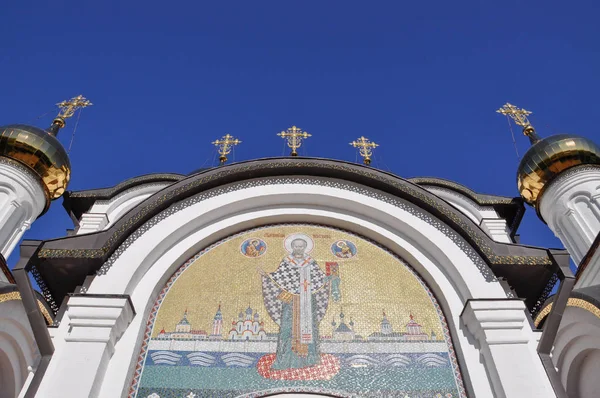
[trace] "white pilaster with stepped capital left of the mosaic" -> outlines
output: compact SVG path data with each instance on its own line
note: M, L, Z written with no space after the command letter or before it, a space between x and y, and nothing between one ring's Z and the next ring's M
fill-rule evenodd
M36 396L96 397L115 344L135 315L131 301L120 295L72 296L66 315L69 332Z

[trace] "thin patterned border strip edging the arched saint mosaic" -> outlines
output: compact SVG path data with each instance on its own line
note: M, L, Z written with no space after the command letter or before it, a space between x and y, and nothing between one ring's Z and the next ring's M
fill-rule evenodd
M456 352L454 351L454 343L452 341L452 336L450 334L450 328L448 327L448 323L446 322L446 317L442 311L442 308L440 307L438 300L436 299L435 295L433 294L433 292L429 289L429 286L425 283L425 281L423 281L421 279L421 277L419 276L419 274L412 268L412 266L410 266L410 264L408 262L406 262L404 259L402 259L401 257L399 257L398 255L396 255L394 252L388 250L387 248L381 246L379 243L360 236L354 232L350 232L350 231L346 231L340 228L335 228L335 227L330 227L327 225L320 225L320 224L313 224L313 223L279 223L279 224L270 224L270 225L264 225L258 228L251 228L242 232L238 232L234 235L230 235L227 238L221 239L220 241L213 243L210 246L207 246L206 248L204 248L203 250L201 250L200 252L198 252L196 255L194 255L193 257L191 257L190 259L188 259L187 261L185 261L176 271L175 273L169 278L169 280L167 281L167 283L165 284L165 286L162 288L161 292L159 293L158 297L156 298L156 301L154 302L154 305L152 306L152 309L150 310L150 315L148 317L148 322L146 323L146 329L144 331L144 336L143 336L143 340L142 340L142 345L140 348L140 354L138 356L138 360L136 362L135 365L135 369L134 369L134 373L133 376L131 377L131 384L129 387L129 393L127 394L127 398L138 398L137 397L137 390L139 387L139 383L142 377L142 372L143 372L143 364L144 361L146 360L146 356L148 355L148 345L150 343L150 337L152 336L152 330L154 328L154 321L156 320L156 316L158 314L158 311L160 310L160 306L164 300L164 298L166 297L167 293L169 292L171 286L173 286L173 284L175 283L175 281L177 281L177 279L179 278L179 276L181 276L181 274L183 274L183 272L185 272L185 270L192 265L198 258L200 258L204 253L214 249L215 247L220 246L221 244L234 239L238 236L244 235L246 233L250 233L250 232L254 232L254 231L260 231L266 228L271 228L274 226L318 226L318 227L323 227L323 228L327 228L327 229L331 229L334 231L340 231L340 232L344 232L348 235L351 236L355 236L357 238L363 239L369 243L371 243L372 245L375 245L376 247L380 248L381 250L385 251L386 253L388 253L389 255L391 255L392 257L394 257L395 259L397 259L398 261L400 261L417 279L417 281L421 284L421 286L425 289L425 291L427 292L427 295L429 296L429 298L431 299L437 313L440 319L440 323L442 324L442 330L444 331L444 339L446 341L446 344L448 345L448 356L452 362L452 370L454 372L454 376L455 376L455 380L457 381L457 389L458 389L458 393L459 393L459 397L458 398L467 398L467 392L466 389L464 387L464 382L462 379L462 372L460 369L460 364L458 363L458 358L456 356ZM253 392L253 393L249 393L249 394L245 394L245 395L241 395L239 398L257 398L257 397L261 397L267 394L275 394L275 393L284 393L284 392L313 392L313 393L324 393L324 394L334 394L334 396L337 397L341 397L341 398L358 398L359 396L356 394L350 394L350 395L340 395L339 391L333 391L333 390L327 390L327 389L321 389L321 388L295 388L295 387L284 387L284 388L279 388L279 389L269 389L269 390L263 390L260 392ZM139 397L139 398L143 398L143 397Z

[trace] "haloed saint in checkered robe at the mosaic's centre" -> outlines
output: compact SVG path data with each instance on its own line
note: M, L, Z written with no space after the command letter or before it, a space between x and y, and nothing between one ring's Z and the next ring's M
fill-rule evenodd
M327 311L331 277L308 255L313 245L307 235L288 236L289 255L275 272L261 271L265 307L279 325L274 370L311 367L321 360L319 322Z

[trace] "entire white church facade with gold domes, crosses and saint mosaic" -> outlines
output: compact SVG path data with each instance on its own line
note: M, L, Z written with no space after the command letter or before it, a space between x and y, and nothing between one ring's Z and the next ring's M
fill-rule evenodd
M295 156L296 127L289 157L227 164L227 135L218 167L69 191L89 102L60 105L0 128L0 398L600 396L590 140L501 108L518 197L378 170L364 137L365 164ZM61 197L73 231L21 241ZM519 243L526 206L565 250Z

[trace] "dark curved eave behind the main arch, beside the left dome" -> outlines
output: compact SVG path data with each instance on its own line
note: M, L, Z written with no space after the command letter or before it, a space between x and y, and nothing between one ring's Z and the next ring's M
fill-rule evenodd
M63 207L72 218L79 220L81 215L88 211L97 200L110 200L116 195L138 185L156 182L177 182L185 178L182 174L155 173L129 178L114 187L88 189L84 191L68 191L63 195Z

